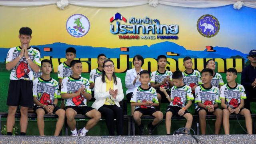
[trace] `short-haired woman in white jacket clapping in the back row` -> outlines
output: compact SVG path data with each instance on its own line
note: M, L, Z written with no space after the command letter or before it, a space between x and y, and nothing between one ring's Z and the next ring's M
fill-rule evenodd
M134 65L134 68L126 71L125 76L125 86L127 88L126 90L126 98L128 102L130 102L132 98L132 93L135 88L140 86L140 72L143 70L141 66L144 64L144 58L141 55L136 55L132 59L132 64ZM135 106L131 106L131 115L133 114L135 110Z

